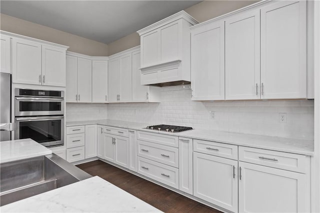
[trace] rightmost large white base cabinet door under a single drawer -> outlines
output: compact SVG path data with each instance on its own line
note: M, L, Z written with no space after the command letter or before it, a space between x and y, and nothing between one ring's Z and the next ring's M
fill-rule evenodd
M239 212L297 213L305 209L305 175L239 162Z

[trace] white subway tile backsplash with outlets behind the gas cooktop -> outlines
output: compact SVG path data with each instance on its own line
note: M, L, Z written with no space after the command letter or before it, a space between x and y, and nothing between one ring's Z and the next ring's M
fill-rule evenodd
M161 103L107 104L112 120L171 124L238 133L313 139L313 100L215 101L190 100L191 90L161 88ZM215 112L215 120L210 119ZM279 123L278 113L287 114Z

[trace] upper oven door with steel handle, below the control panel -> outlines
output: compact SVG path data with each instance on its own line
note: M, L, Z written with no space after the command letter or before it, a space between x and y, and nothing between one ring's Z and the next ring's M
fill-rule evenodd
M15 97L16 116L63 115L63 98Z

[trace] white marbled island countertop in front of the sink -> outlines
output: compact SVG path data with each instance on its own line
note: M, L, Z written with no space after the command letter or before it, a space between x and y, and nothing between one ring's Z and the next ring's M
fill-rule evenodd
M2 213L159 213L158 209L95 176L0 208Z

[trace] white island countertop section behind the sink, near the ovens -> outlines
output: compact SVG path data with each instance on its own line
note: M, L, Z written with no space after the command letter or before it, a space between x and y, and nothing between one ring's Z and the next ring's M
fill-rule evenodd
M49 155L52 153L51 150L31 139L1 141L0 149L0 163Z

